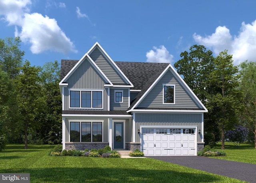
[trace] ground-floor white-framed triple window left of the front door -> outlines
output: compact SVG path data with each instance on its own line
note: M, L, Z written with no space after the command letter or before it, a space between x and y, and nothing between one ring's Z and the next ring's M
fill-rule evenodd
M102 142L102 121L70 121L70 142Z

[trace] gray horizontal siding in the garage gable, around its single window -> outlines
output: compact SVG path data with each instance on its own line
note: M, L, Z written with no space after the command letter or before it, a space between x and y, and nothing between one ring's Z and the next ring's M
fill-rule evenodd
M175 104L163 104L163 84L175 85ZM138 108L199 108L196 102L190 97L184 87L168 70L165 75L156 83L154 88L137 106Z

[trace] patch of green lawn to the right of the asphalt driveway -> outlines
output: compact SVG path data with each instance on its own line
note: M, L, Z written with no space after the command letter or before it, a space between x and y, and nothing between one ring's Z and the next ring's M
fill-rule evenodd
M218 142L214 149L220 150L221 142ZM215 156L212 158L256 164L256 149L252 142L244 142L238 148L232 142L225 142L224 151L227 153L226 156Z

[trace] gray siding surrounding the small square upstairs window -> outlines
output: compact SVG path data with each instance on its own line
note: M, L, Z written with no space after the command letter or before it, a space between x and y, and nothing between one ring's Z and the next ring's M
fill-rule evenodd
M115 102L115 90L123 91L123 102ZM127 110L128 109L128 89L114 88L110 89L110 110Z

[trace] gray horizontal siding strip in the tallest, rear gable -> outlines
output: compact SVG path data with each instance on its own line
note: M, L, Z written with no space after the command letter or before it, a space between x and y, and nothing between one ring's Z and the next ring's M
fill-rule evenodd
M114 69L98 48L95 48L89 56L114 85L127 85L120 74L117 73L116 69Z

